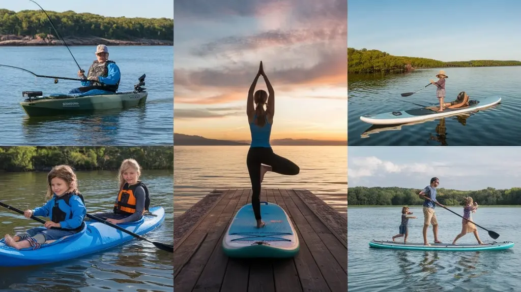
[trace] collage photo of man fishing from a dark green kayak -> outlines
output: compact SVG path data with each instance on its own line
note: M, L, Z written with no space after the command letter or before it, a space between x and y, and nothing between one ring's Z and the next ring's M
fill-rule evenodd
M173 2L3 1L0 19L0 145L172 145Z

